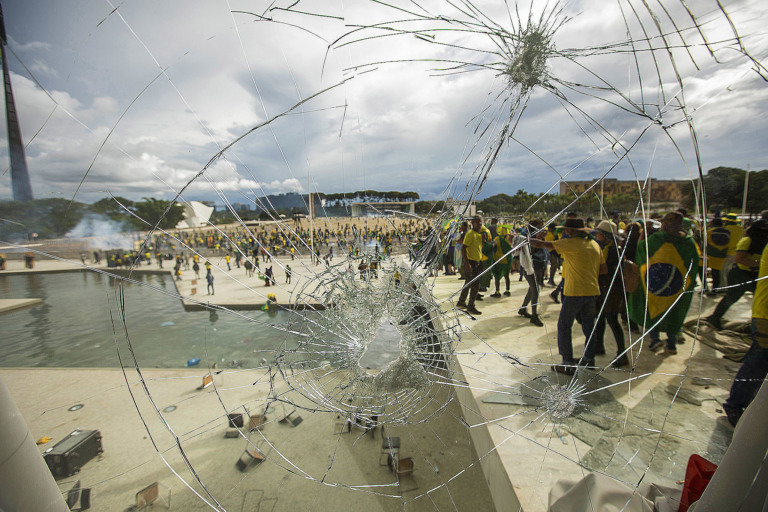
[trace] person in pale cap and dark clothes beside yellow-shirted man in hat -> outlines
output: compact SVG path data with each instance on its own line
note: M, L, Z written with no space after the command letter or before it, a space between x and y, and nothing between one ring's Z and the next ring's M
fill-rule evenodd
M624 345L624 330L619 323L619 313L624 309L624 287L622 285L622 249L618 226L611 221L601 220L594 232L595 241L600 245L608 272L598 278L600 283L599 314L595 322L595 343L597 354L605 354L605 324L611 327L616 340L616 358L611 366L618 368L629 364Z

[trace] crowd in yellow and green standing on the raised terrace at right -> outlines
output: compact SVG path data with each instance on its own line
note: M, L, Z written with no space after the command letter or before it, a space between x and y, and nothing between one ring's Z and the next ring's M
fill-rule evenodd
M510 279L519 273L528 289L518 314L542 326L537 312L541 291L554 287L549 295L562 306L557 322L561 361L553 369L573 375L606 353L606 325L616 342L614 367L630 364L625 340L630 330L643 333L651 351L674 356L695 292L722 295L705 318L718 330L728 309L746 292L755 292L754 344L740 371L745 378L737 377L726 404L735 424L748 403L744 397L754 395L754 383L759 388L768 370L768 284L759 279L768 273L768 211L747 226L734 214L716 215L703 226L684 210L634 222L618 214L597 223L568 214L561 224L545 226L536 219L485 224L476 216L453 235L445 230L436 261L445 275L461 274L457 307L475 319L482 314L478 302L488 300L484 293L493 290L495 299L509 296ZM574 322L585 337L580 356L574 355ZM761 375L757 380L756 374Z

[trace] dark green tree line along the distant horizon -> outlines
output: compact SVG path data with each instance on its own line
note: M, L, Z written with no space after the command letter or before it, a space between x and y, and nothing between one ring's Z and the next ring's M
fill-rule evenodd
M692 180L684 186L682 206L693 212L696 205L697 191L702 183L706 195L708 213L717 210L741 211L744 195L746 172L734 167L716 167L704 175L703 180ZM571 194L530 193L518 190L515 195L496 194L477 201L477 209L485 215L522 215L527 217L551 217L562 211L575 210L585 217L599 217L601 209L610 214L619 211L632 215L638 207L639 194L611 194L603 197L600 204L599 191L585 194L575 204ZM416 213L427 215L440 213L445 209L445 201L419 201L416 192L380 192L376 190L358 190L351 193L318 193L318 199L324 199L326 206L349 206L355 202L403 202L415 201ZM747 194L747 212L759 213L767 208L768 170L749 173ZM158 225L161 229L172 229L184 218L181 205L170 201L143 197L132 201L124 197L106 197L93 204L85 204L62 198L36 199L34 201L0 202L0 240L13 241L26 239L37 233L39 238L59 238L74 229L86 215L102 215L122 225L126 231L146 230ZM167 210L167 211L166 211ZM287 217L295 213L306 213L306 208L278 209L276 211L240 212L243 220L269 220ZM213 223L235 222L235 216L229 210L219 210L211 216Z

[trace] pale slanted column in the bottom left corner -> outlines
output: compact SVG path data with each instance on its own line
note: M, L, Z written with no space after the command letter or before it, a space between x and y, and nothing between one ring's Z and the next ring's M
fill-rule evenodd
M1 378L0 510L69 511L24 418Z

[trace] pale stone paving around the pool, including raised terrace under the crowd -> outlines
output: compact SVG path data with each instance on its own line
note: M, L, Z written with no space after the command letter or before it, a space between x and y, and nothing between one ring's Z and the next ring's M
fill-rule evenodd
M278 269L291 262L280 259L273 264L278 286L265 287L257 277L245 276L242 268L227 271L223 261L213 263L215 295L207 295L202 280L193 283L190 271L176 282L187 302L260 307L268 293L275 293L279 303L289 304L303 296L312 283L307 276L317 271L292 264L296 275L287 286L284 272ZM10 261L6 273L24 271L21 266ZM41 260L35 268L38 272L61 270L82 270L82 266ZM406 493L407 510L489 510L493 506L487 492L490 486L498 510L516 510L519 503L525 511L540 511L546 509L553 483L581 478L584 467L630 484L644 478L644 482L675 485L684 476L690 454L699 453L714 462L722 455L731 429L722 420L719 401L738 364L722 359L714 349L688 337L678 355L662 357L638 343L632 350L633 369L583 372L581 382L589 392L581 397L584 406L554 421L541 400L544 388L537 386L563 385L569 380L549 369L559 360L555 340L559 307L548 294L542 294L540 312L545 325L536 327L516 314L524 283L513 280L511 297L486 296L478 303L483 315L476 320L451 306L460 286L456 277L440 276L430 283L442 303L442 322L457 322L463 331L450 377L452 382L465 380L469 385L453 388L459 400L449 401L446 409L438 411L442 420L394 433L403 440L403 456L416 460L419 489ZM713 307L713 299L697 299L691 316L699 312L704 316ZM730 318L748 316L745 303L729 313ZM575 328L577 353L582 339ZM601 367L607 366L612 353L610 334L606 340L609 354L598 357ZM195 475L227 510L261 506L269 510L272 505L274 510L401 508L400 499L387 497L398 491L394 476L378 466L380 439L354 432L334 434L332 415L308 411L301 412L304 422L296 428L278 423L280 414L273 411L267 413L269 423L261 433L227 439L225 410L245 404L253 412L267 394L280 396L284 388L279 377L271 381L258 370L247 370L216 374L215 388L198 390L204 374L202 369L142 368L142 381L135 369L125 376L119 369L0 370L35 437L48 436L56 442L78 427L102 431L103 457L86 464L76 477L94 488L94 510L122 510L136 491L155 480L172 490L173 508L206 509L192 492L210 501ZM694 376L709 380L696 385ZM67 410L77 403L85 407ZM167 405L177 409L161 418L158 409ZM249 442L267 453L267 463L241 473L234 463ZM177 443L184 447L192 469L180 458ZM477 456L484 474L480 465L473 464ZM456 474L460 476L451 480ZM76 478L61 481L62 489Z

